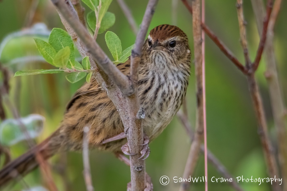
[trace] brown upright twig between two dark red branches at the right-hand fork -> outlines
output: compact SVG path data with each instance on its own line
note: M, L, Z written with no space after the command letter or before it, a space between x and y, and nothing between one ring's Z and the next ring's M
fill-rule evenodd
M237 0L236 8L237 8L237 16L238 16L238 24L239 24L240 42L243 48L245 65L247 67L250 67L251 61L250 61L249 54L248 54L246 29L245 29L246 21L244 20L244 16L243 16L242 4L243 4L242 0Z

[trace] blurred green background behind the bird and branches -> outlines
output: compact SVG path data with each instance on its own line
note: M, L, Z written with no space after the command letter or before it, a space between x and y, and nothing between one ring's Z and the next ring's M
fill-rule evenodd
M0 41L14 31L22 30L26 25L27 13L31 0L2 0L0 1ZM146 9L147 1L126 0L139 25ZM226 44L236 57L244 62L239 41L238 20L235 7L236 1L206 0L206 23ZM90 11L88 7L86 10ZM284 94L287 94L287 39L286 39L286 1L282 2L281 12L275 26L274 47L278 63L278 73ZM88 12L86 11L86 13ZM115 32L122 41L123 49L135 42L135 35L123 15L117 1L113 1L108 11L115 13L116 23L110 31ZM174 13L175 16L174 16ZM244 1L244 14L247 21L247 39L249 54L254 59L259 43L255 17L249 1ZM172 18L173 17L173 18ZM63 28L57 11L50 1L40 0L32 23L43 22L51 30L53 27ZM172 6L171 0L161 0L158 3L149 29L160 24L175 24L189 37L191 52L193 53L192 17L181 1L178 7ZM99 34L98 43L112 58L104 41L104 34ZM17 70L49 69L50 64L39 61L22 62L23 57L38 56L33 37L15 38L8 42L3 50L0 61L12 73ZM20 58L15 60L16 58ZM243 178L265 178L267 168L264 162L260 140L257 134L257 123L249 95L247 80L243 74L226 58L219 48L206 37L206 100L207 100L207 128L208 147L234 176ZM20 60L20 62L19 62ZM189 120L195 124L195 76L194 64L191 63L191 77L187 92ZM270 130L272 142L275 144L274 121L270 106L267 83L264 77L265 59L260 63L256 73L257 81L263 98L265 114ZM65 105L73 93L83 83L84 79L70 84L65 79L66 74L43 74L21 76L10 79L10 99L19 109L21 116L32 113L43 115L46 120L44 131L36 142L48 137L62 120ZM2 78L2 77L1 77ZM286 101L286 97L284 97ZM6 107L8 118L11 111ZM276 146L276 145L275 145ZM166 130L152 143L151 154L146 160L146 171L151 176L154 190L178 190L180 184L174 183L174 176L181 177L189 153L190 139L182 127L179 119L174 117ZM27 150L23 142L13 145L12 158ZM3 159L3 156L1 157ZM1 160L3 161L3 160ZM81 153L58 154L51 160L53 178L59 190L86 190L83 178L83 164ZM92 179L95 190L126 190L130 181L130 170L112 153L93 150L90 153ZM168 176L170 183L162 186L159 183L161 176ZM199 157L193 177L204 176L203 157ZM209 180L212 176L222 177L212 166L208 166ZM42 185L40 171L34 170L24 178L30 186ZM235 181L235 180L234 180ZM245 190L271 190L269 183L240 183ZM204 183L192 184L190 190L203 190ZM227 183L212 183L209 188L213 191L233 190ZM10 190L23 190L23 184L17 183ZM9 190L8 189L8 190Z

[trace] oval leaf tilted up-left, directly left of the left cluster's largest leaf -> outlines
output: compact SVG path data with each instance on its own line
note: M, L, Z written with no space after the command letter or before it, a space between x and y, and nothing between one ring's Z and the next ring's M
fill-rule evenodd
M48 63L54 65L53 60L54 60L54 57L56 56L56 50L50 44L48 44L47 42L45 42L44 40L40 38L34 38L34 41L36 43L36 46L39 52L42 54L44 59Z

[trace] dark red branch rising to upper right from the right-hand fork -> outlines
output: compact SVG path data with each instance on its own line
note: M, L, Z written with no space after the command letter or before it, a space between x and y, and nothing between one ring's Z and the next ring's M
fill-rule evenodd
M267 1L267 9L266 9L266 17L265 17L265 19L263 21L262 34L261 34L259 46L258 46L258 49L257 49L256 57L255 57L255 60L253 62L253 66L252 66L253 72L255 72L257 70L257 68L259 66L259 62L261 60L261 56L262 56L264 45L265 45L265 41L266 41L267 27L268 27L271 11L272 11L272 0L268 0Z

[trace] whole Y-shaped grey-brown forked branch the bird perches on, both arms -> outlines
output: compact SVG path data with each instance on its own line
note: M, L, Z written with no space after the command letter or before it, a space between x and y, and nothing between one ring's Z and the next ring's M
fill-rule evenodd
M128 133L129 149L132 153L138 153L137 155L131 157L131 184L133 190L143 190L145 188L145 165L144 161L136 160L135 157L139 157L139 152L142 149L143 143L143 130L141 125L141 119L137 119L137 113L139 111L139 99L138 99L138 89L137 89L137 76L138 76L138 65L141 56L141 49L144 43L144 38L146 32L154 13L154 7L158 0L150 0L144 19L141 24L141 30L137 35L135 42L135 48L131 55L131 74L130 80L127 76L119 71L119 69L108 59L106 54L98 46L98 44L90 36L86 28L80 23L77 16L74 14L73 10L68 8L65 3L61 0L51 0L53 4L57 7L58 11L66 20L66 25L71 27L72 31L82 40L88 52L92 55L94 60L98 63L100 68L104 70L108 77L119 87L121 92L126 97L127 103L125 103L125 98L121 92L117 91L116 86L107 86L102 82L101 77L95 74L97 80L100 81L100 85L107 91L108 97L113 101L116 108L119 109L119 114L123 121L125 132ZM70 2L67 1L69 5ZM66 26L65 25L65 26ZM73 39L77 36L72 36ZM114 89L112 89L114 88ZM111 90L112 89L112 90ZM128 115L127 115L128 111Z

